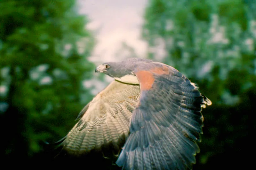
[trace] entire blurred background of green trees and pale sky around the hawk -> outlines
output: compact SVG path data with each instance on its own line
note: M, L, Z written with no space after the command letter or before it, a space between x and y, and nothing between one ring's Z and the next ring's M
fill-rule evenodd
M128 57L177 68L212 100L194 169L250 164L255 0L1 0L1 158L54 157L44 142L111 81L95 65Z

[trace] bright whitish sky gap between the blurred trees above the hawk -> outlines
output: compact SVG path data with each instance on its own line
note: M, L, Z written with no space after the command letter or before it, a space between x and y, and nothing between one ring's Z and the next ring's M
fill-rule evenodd
M122 42L132 46L139 57L146 56L147 43L140 39L147 0L77 0L81 14L90 19L88 28L98 30L97 44L90 60L95 64L121 60L116 52Z

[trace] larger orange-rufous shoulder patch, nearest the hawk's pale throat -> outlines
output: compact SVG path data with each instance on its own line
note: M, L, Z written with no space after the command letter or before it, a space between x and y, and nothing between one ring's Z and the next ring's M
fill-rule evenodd
M150 71L142 70L136 72L135 75L140 82L140 90L149 90L152 88L155 81L153 73Z

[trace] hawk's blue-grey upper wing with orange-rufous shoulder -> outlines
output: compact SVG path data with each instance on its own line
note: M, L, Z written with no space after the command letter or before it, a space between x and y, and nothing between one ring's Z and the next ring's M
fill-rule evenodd
M211 104L171 66L136 70L140 103L116 164L123 169L191 169L202 134L201 106Z

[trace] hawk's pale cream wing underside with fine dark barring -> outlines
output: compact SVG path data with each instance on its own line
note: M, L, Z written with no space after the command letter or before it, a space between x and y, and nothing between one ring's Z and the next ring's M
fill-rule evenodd
M119 154L129 135L139 95L139 85L110 83L78 115L80 120L63 141L63 149L70 155L81 156L112 145Z

